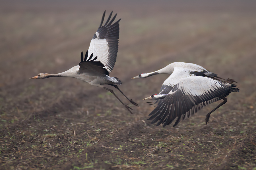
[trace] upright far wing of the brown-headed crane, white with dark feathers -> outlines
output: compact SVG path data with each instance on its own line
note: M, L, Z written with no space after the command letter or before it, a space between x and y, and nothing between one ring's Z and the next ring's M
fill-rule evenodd
M102 20L100 23L100 27L98 28L97 32L92 37L90 47L88 50L88 54L91 55L92 53L94 56L98 58L95 61L100 61L104 68L111 72L115 65L116 57L117 57L117 50L118 50L118 39L119 39L119 19L114 24L113 21L115 20L115 16L110 21L113 11L110 13L108 20L102 26L104 17L104 12L102 16ZM112 24L112 25L111 25Z

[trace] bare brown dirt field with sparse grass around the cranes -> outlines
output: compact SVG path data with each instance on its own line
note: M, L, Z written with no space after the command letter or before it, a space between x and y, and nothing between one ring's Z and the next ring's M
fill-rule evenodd
M256 5L133 3L0 7L0 169L256 169ZM104 10L122 18L111 76L140 105L133 114L74 78L29 80L78 65ZM131 78L176 61L235 79L240 92L207 125L220 101L156 127L142 99L168 75Z

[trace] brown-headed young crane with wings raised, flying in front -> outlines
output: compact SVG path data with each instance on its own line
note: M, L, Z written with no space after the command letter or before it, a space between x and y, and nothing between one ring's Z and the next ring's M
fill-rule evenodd
M109 73L113 70L115 65L117 50L118 50L118 39L119 39L119 20L114 24L113 21L116 15L111 16L113 11L110 13L108 20L104 25L104 17L106 11L103 13L100 27L97 32L92 37L90 47L85 54L81 52L81 62L79 65L72 67L71 69L58 74L48 74L40 73L30 79L34 78L49 78L49 77L73 77L84 82L87 82L93 86L104 88L110 91L115 97L125 106L125 108L131 112L132 108L125 105L119 97L113 92L113 90L104 87L104 85L110 85L115 87L121 94L123 92L119 89L117 85L122 84L122 82L116 77L110 77ZM88 58L88 56L90 56ZM129 99L125 94L123 94L133 105L139 106L132 99ZM131 110L130 110L131 109ZM132 112L131 112L132 114Z

